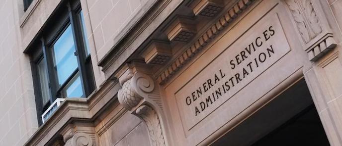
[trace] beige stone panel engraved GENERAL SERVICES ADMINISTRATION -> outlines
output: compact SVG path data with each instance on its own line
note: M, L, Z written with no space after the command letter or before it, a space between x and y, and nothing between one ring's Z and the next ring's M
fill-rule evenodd
M191 130L290 51L276 13L239 35L175 93L185 130Z

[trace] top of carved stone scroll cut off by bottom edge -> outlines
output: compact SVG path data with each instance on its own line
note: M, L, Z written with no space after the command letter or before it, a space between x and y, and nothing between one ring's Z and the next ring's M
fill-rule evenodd
M95 137L86 133L71 134L65 139L64 146L96 146Z

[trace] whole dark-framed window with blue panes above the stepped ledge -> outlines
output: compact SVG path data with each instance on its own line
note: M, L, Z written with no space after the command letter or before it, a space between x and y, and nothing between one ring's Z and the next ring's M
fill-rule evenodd
M57 98L87 97L95 89L85 19L78 0L66 0L29 48L38 117ZM42 124L41 119L38 120Z

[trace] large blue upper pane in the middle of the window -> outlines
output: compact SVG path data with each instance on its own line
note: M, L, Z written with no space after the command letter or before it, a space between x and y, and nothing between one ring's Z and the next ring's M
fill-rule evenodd
M62 85L78 68L75 50L73 30L69 25L53 46L54 65L59 85Z

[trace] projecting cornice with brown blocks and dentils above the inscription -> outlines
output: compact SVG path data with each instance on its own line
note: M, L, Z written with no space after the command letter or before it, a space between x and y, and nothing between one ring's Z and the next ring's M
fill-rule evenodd
M156 17L156 19L165 17L164 22L158 25L157 28L155 24L157 22L150 22L149 26L137 25L136 30L141 28L146 30L151 27L155 28L155 30L150 31L148 35L142 34L146 32L139 34L139 32L134 32L136 30L132 30L132 33L140 35L139 37L143 37L145 40L139 38L133 40L133 42L122 41L122 45L114 46L114 48L117 48L113 49L113 52L116 51L116 54L108 53L108 56L101 60L99 65L103 67L102 71L104 71L108 79L113 77L113 74L123 64L133 60L142 60L148 64L155 78L163 84L179 67L217 35L219 31L223 30L237 18L252 1L183 1L168 17L164 15ZM156 7L161 8L158 4ZM173 3L169 3L169 5L171 4ZM141 22L149 22L147 20L148 18L145 18ZM163 47L160 45L161 42L164 44Z

